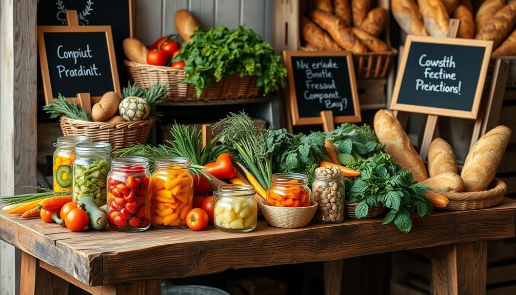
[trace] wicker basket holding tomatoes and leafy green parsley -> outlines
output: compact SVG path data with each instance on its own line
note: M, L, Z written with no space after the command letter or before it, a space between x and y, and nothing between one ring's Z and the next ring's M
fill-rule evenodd
M171 67L158 67L157 65L137 63L125 60L125 67L129 78L133 83L149 88L152 85L167 84L168 92L164 100L169 101L214 101L214 100L235 100L260 97L263 94L263 87L256 86L256 76L240 77L233 75L229 78L222 78L215 81L210 78L209 87L202 91L199 99L197 90L191 84L184 84L181 81L186 77L183 69Z

